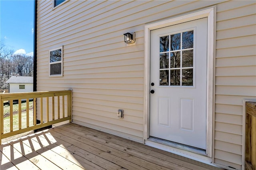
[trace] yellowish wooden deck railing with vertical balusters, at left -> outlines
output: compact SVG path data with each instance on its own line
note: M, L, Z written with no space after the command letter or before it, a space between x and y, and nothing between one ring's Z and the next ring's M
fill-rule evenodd
M16 111L14 111L14 105ZM0 144L2 138L62 121L71 121L71 113L71 90L0 94ZM15 117L18 115L18 118L14 119L14 115ZM40 120L38 124L37 120Z

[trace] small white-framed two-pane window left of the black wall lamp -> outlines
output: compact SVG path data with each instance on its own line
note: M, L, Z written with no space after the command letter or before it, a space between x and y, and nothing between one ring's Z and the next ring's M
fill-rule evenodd
M49 50L49 76L63 76L63 47Z

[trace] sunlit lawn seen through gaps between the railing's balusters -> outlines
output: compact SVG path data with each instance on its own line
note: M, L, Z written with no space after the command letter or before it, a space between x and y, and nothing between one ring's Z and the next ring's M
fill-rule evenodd
M19 128L19 115L18 115L18 103L13 105L13 130L18 130ZM29 102L29 125L33 125L33 101ZM26 101L21 104L21 126L22 128L26 127ZM10 106L4 106L4 133L10 132Z

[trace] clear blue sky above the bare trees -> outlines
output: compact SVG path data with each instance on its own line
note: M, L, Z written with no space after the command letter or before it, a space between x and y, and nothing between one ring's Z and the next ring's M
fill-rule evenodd
M0 0L0 40L16 53L34 51L34 0Z

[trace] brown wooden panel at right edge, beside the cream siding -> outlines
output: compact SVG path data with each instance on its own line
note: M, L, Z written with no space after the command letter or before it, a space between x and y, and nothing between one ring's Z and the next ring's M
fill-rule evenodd
M246 102L246 170L256 169L256 103Z

